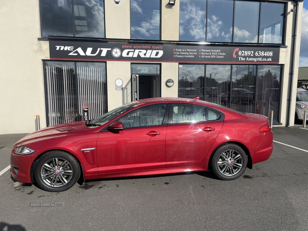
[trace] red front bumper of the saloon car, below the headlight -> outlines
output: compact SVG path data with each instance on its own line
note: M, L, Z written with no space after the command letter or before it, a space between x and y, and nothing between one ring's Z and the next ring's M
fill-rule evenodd
M37 153L30 155L17 155L11 153L11 176L22 183L33 183L31 181L31 166Z

